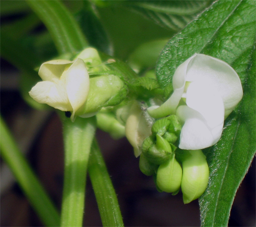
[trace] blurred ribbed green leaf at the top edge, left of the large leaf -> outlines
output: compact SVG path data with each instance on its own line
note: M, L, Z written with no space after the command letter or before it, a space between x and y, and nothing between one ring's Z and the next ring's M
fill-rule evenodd
M131 8L156 24L178 31L205 9L210 1L131 1Z

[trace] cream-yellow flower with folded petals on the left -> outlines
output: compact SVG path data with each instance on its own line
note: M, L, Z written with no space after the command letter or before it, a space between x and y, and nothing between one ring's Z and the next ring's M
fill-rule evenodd
M45 103L62 111L71 111L74 121L76 110L87 100L89 74L83 60L52 60L40 66L42 81L32 87L29 95L39 103Z

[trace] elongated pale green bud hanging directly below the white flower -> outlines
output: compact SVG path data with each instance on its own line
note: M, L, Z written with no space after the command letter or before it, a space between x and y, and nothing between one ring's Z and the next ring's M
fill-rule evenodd
M184 203L199 198L205 191L209 180L209 167L202 150L186 150L182 160L181 190Z

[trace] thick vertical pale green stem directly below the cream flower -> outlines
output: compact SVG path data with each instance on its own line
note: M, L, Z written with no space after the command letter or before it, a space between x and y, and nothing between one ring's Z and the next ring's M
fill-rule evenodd
M63 120L65 170L61 226L82 226L87 165L95 129L95 117L77 118L74 123Z

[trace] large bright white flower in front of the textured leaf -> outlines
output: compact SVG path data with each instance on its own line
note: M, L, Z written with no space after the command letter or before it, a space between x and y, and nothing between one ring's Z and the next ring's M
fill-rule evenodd
M197 150L216 144L224 119L243 96L238 74L226 62L203 54L183 62L173 77L173 95L160 107L148 108L152 117L170 114L184 122L181 149Z

